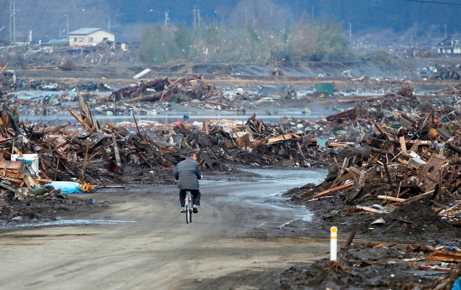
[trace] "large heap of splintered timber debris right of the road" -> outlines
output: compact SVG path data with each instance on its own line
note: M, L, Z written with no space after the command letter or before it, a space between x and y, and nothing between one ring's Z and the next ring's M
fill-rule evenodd
M398 97L406 99L406 107L389 97L378 104L373 104L376 99L366 106L358 104L355 114L349 113L347 118L368 132L361 130L354 142L345 142L350 137L329 140L326 147L331 148L335 160L329 178L320 187L301 193L301 198L342 193L347 196L349 212L388 213L400 204L429 197L437 204L439 215L461 225L461 203L455 202L460 199L461 185L460 101L452 100L450 103L458 106L454 107L431 99L423 103L410 96ZM385 114L385 103L402 111ZM418 111L410 109L412 103ZM344 119L327 119L341 120L338 125L346 126ZM366 205L355 204L363 198Z

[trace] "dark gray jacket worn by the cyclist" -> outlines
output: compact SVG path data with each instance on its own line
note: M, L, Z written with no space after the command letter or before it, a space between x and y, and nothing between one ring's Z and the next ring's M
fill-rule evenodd
M202 172L198 162L187 157L176 165L173 175L178 180L179 189L198 189L198 180L201 179Z

